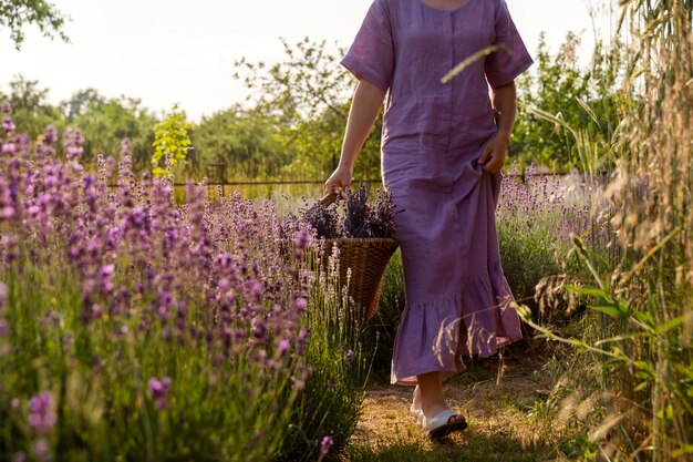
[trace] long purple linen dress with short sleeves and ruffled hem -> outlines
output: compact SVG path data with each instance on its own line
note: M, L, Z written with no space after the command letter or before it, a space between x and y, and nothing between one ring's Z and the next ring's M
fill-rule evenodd
M446 84L456 64L505 43ZM496 133L492 88L532 60L505 0L441 10L422 0L375 0L342 64L387 93L383 181L392 192L406 288L392 381L464 370L521 338L500 267L495 208L500 174L476 160Z

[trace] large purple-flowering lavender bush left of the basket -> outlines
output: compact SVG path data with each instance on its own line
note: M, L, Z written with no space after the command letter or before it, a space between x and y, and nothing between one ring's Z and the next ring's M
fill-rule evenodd
M211 203L203 184L178 206L170 178L135 178L127 143L112 191L116 166L85 172L79 132L32 144L9 106L2 127L0 461L271 460L297 433L325 451L330 422L296 430L321 411L307 383L333 387L310 372L348 382L341 361L362 361L343 331L310 356L327 339L306 311L340 294L313 285L309 230L287 258L272 203Z

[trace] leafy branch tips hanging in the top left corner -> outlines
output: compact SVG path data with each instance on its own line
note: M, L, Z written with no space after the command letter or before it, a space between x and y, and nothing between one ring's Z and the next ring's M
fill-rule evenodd
M10 39L17 50L24 41L23 27L34 24L43 37L51 40L59 37L68 42L63 25L69 17L64 16L52 3L45 0L3 0L0 2L0 28L10 29Z

